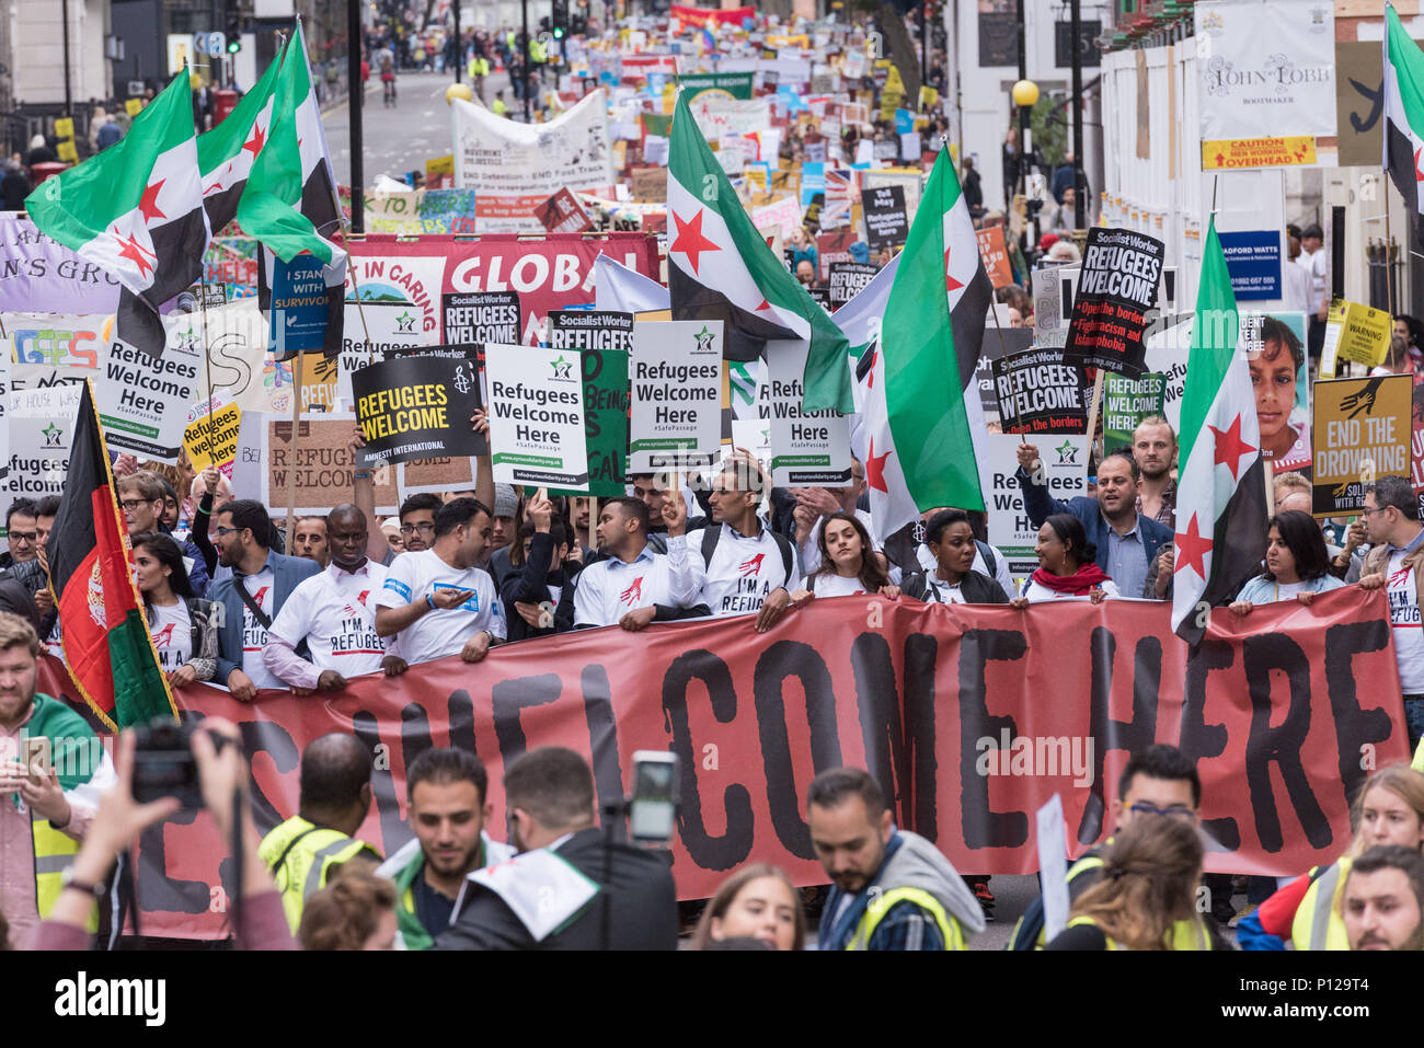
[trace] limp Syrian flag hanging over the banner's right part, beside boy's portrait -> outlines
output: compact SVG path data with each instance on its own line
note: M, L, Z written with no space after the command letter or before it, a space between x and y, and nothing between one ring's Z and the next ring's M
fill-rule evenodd
M1266 555L1266 467L1239 320L1216 221L1206 234L1182 393L1172 629L1188 644L1206 611L1260 572Z

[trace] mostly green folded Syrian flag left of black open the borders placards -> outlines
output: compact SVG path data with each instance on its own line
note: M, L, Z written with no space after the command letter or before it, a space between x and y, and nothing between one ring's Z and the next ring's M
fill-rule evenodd
M921 510L984 510L974 369L991 298L968 204L941 150L900 253L880 345L857 369L867 380L866 484L881 535Z

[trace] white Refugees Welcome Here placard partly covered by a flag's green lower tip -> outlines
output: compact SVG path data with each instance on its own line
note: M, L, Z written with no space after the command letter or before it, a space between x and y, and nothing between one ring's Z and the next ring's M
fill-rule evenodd
M810 342L766 343L772 409L772 484L850 487L850 424L839 412L805 412L802 397Z

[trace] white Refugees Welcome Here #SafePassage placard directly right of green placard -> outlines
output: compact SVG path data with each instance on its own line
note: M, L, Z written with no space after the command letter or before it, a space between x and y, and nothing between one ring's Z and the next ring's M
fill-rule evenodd
M635 322L628 471L701 468L722 443L722 322Z

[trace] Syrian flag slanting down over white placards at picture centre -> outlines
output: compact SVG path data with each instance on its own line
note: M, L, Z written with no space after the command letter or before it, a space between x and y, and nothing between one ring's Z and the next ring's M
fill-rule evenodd
M769 340L810 339L802 406L850 414L846 336L752 225L685 93L678 95L668 148L672 319L722 320L731 360L755 360Z

